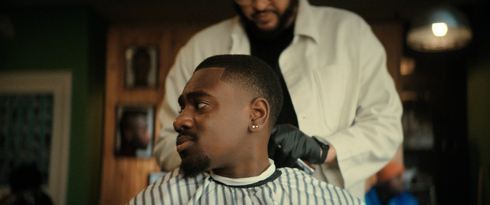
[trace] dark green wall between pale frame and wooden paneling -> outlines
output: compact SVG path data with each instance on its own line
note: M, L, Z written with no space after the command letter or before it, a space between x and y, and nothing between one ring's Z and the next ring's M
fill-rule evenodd
M8 8L15 36L0 43L1 71L71 70L67 205L98 204L105 28L85 6Z

